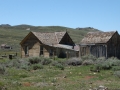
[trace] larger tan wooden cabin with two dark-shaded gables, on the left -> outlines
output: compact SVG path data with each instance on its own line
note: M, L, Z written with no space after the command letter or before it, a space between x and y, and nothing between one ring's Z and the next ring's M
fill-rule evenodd
M76 57L75 43L67 32L30 32L20 43L21 57Z

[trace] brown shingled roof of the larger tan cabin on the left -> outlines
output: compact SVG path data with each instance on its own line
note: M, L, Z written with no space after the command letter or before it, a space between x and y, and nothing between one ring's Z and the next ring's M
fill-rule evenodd
M32 32L43 44L58 44L66 32L41 33Z

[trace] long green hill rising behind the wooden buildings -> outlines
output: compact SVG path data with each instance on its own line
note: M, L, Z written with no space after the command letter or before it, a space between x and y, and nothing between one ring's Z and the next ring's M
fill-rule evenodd
M0 45L8 44L13 47L14 51L20 51L20 41L30 32L55 32L67 31L75 43L79 43L87 32L99 31L91 27L86 28L68 28L63 26L32 26L32 25L16 25L9 24L0 25Z

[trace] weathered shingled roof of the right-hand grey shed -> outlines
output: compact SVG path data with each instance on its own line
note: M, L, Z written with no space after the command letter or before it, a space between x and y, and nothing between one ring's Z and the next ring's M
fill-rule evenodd
M81 44L107 43L116 32L88 32Z

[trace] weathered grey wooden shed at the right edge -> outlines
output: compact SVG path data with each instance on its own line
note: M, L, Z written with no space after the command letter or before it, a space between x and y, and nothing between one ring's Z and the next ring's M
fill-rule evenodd
M89 32L80 43L80 56L120 58L120 36L115 32Z

